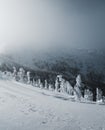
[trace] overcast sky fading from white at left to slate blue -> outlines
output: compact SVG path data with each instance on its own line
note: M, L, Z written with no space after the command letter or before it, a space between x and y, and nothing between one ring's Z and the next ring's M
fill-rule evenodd
M105 47L104 0L0 0L0 49Z

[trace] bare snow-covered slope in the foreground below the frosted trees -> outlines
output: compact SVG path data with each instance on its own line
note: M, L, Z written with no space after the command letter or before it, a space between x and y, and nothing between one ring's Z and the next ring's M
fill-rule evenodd
M0 130L105 130L105 106L0 80Z

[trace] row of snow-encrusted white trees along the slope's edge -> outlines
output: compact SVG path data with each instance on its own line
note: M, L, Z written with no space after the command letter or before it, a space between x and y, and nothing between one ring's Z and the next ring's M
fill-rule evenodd
M0 76L2 74L0 73ZM77 75L76 84L72 87L69 81L65 80L62 75L57 75L55 79L54 85L48 83L47 79L44 80L44 83L41 82L41 79L38 78L35 80L34 77L31 76L31 72L25 72L24 68L19 68L17 71L16 67L13 67L13 72L3 72L4 78L14 79L19 82L31 84L35 87L45 88L49 90L55 90L56 92L66 93L71 96L74 96L75 100L85 101L93 101L93 93L89 89L84 89L84 84L81 80L81 75ZM83 94L84 93L84 94ZM100 89L96 89L96 99L97 102L103 101L102 92Z

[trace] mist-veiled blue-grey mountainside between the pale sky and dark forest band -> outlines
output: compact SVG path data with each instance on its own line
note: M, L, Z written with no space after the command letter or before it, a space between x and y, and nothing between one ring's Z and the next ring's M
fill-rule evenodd
M20 49L19 51L11 52L7 55L12 58L12 61L34 70L40 69L64 73L65 71L70 71L71 67L77 68L79 70L78 73L84 75L88 71L104 74L105 70L104 50L57 48L36 52L27 48L25 50Z

